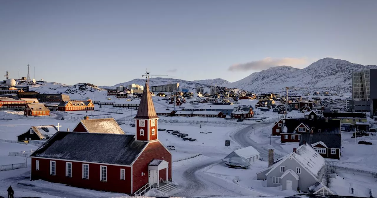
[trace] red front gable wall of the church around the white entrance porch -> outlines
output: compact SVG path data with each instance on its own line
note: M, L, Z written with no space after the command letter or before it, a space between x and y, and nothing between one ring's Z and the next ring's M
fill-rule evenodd
M155 159L164 160L169 163L169 180L172 178L172 155L159 143L159 141L150 143L143 153L137 158L132 166L133 174L133 192L143 187L148 181L148 164ZM145 175L141 176L141 173ZM162 175L160 175L161 177ZM161 177L163 178L163 177Z

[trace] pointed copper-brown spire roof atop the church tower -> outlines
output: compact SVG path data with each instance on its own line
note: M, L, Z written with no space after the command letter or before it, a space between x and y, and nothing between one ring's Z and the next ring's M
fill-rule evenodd
M152 96L150 95L149 91L149 84L147 81L145 82L143 96L141 97L139 109L135 116L136 119L150 119L150 118L158 118L155 105L152 101Z

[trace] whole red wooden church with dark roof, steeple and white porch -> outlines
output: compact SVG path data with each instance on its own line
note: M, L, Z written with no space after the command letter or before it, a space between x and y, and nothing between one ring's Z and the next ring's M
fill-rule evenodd
M158 116L146 82L136 135L57 132L31 155L31 180L135 194L172 180L172 154L158 140Z

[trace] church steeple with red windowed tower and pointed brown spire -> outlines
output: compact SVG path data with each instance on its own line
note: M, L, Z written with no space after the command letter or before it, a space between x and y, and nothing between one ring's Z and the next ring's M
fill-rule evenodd
M141 97L139 109L135 116L136 140L151 141L157 140L157 121L155 106L149 91L149 84L146 81Z

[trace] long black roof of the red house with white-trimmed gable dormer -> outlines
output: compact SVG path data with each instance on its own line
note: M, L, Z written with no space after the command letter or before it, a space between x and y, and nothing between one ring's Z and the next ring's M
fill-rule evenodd
M309 130L313 129L314 133L329 133L329 134L339 134L340 133L340 120L308 120L308 119L285 119L283 126L283 133L293 134L296 133L295 129L299 124L305 124ZM287 129L285 130L284 127ZM320 130L319 130L320 129Z

